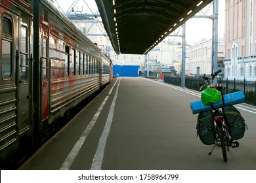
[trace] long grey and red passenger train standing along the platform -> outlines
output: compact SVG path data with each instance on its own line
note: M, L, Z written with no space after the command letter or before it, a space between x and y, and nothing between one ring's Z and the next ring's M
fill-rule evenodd
M11 169L112 82L113 64L51 0L0 0L0 26L0 165Z

